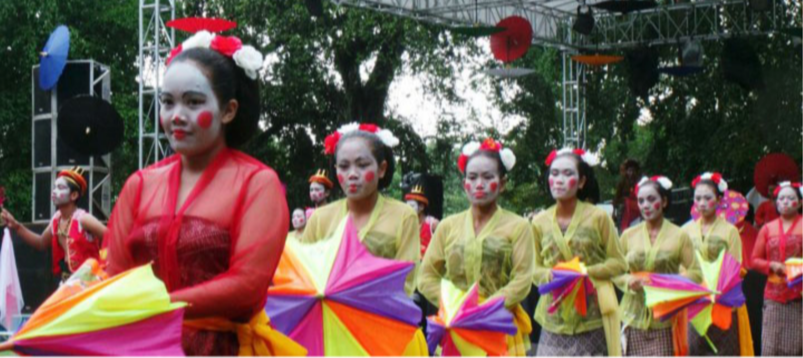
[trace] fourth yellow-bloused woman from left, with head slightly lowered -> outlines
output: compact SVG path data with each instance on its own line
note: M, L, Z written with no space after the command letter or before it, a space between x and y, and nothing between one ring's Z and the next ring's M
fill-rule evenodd
M622 233L622 250L629 272L613 281L625 293L621 315L626 357L687 356L687 319L683 315L666 321L654 319L642 287L646 277L639 275L683 273L697 282L701 279L691 239L664 218L671 189L672 181L667 177L643 177L634 189L642 222Z

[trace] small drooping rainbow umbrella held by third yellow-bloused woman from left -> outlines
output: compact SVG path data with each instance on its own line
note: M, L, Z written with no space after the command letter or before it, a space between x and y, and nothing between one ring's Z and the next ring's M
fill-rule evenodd
M588 309L586 295L593 293L593 290L585 264L578 257L552 267L552 281L538 287L541 295L552 294L552 304L547 309L549 313L555 313L560 303L565 301L584 317Z

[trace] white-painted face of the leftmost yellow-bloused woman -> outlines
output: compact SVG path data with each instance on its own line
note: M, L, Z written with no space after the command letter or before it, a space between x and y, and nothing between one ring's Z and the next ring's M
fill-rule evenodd
M385 170L373 158L367 140L351 137L340 143L335 155L337 182L349 199L363 199L377 192Z

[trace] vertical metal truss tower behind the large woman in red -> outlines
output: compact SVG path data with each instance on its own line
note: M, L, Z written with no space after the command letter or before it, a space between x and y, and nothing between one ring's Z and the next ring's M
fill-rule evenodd
M175 33L165 23L176 17L175 0L139 0L139 166L167 157L165 135L159 132L159 84Z

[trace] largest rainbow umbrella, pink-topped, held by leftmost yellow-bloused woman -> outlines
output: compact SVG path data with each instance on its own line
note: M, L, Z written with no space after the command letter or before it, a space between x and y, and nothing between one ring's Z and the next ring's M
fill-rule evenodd
M370 254L348 218L332 238L287 241L265 311L310 358L400 357L422 315L404 291L413 266Z

